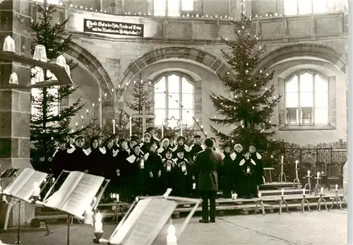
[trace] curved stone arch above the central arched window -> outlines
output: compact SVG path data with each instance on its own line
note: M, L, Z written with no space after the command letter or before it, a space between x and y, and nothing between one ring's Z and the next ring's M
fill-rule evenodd
M225 73L227 71L227 66L223 61L217 56L203 50L180 46L162 47L147 52L131 62L121 75L121 87L125 83L129 83L143 68L158 61L171 58L195 61L198 64L203 64L215 73Z

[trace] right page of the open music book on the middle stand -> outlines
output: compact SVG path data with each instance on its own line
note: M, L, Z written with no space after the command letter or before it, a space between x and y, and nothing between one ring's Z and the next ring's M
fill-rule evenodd
M68 196L61 210L76 217L81 217L92 203L103 181L104 177L83 174L83 177L81 177L78 184Z

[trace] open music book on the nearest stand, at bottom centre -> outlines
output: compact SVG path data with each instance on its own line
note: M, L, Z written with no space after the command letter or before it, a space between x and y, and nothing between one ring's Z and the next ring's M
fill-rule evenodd
M125 222L116 227L109 244L150 245L177 208L176 201L146 198L139 201Z

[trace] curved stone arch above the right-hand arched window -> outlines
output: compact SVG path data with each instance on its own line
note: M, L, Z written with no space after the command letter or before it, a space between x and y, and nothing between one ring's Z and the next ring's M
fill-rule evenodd
M290 59L295 56L313 56L325 61L329 61L336 66L340 71L345 73L345 62L342 61L342 54L337 53L334 49L313 43L301 43L294 45L285 45L275 49L273 52L266 54L258 64L258 69L268 68L273 64L277 64L285 59Z

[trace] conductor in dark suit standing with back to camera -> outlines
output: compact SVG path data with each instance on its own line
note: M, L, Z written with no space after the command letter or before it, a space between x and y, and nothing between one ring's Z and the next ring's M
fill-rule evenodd
M214 141L205 139L205 150L196 155L195 165L200 173L198 175L198 190L202 198L201 223L215 222L216 196L218 189L217 171L222 165L222 156L213 149ZM208 201L210 201L210 220L208 220Z

